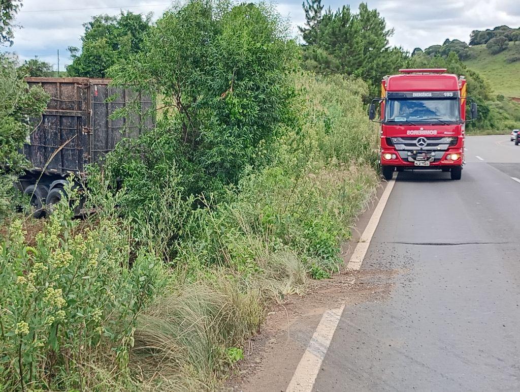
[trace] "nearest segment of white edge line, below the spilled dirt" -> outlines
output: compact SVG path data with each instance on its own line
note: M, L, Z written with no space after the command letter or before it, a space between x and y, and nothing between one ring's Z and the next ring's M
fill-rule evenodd
M310 392L321 369L321 362L329 349L332 336L340 322L345 305L323 313L320 323L310 339L307 350L303 353L300 363L287 387L287 392Z

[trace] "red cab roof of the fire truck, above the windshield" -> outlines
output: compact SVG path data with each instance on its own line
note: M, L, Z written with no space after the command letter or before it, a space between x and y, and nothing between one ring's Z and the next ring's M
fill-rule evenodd
M386 91L457 91L457 75L445 73L444 68L400 69L400 75L385 77Z

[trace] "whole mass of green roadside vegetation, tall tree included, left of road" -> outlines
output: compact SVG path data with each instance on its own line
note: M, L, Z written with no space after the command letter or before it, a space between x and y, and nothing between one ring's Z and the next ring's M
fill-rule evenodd
M303 71L270 5L191 1L142 45L109 74L160 115L90 169L96 214L72 219L69 187L46 220L3 217L3 390L214 389L373 197L367 84Z

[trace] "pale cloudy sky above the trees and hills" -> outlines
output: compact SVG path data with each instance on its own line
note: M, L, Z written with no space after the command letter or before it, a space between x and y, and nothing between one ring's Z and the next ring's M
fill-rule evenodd
M359 1L323 0L333 9L344 4L357 8ZM506 24L520 24L520 0L368 0L395 29L391 44L412 50L442 43L446 38L469 40L472 30L482 30ZM171 0L23 0L16 18L20 28L15 44L2 51L17 53L22 59L40 57L57 69L57 50L60 69L70 64L68 46L81 46L82 23L94 15L119 14L120 9L147 14L155 18L171 5ZM278 10L290 17L294 33L303 24L301 0L280 0Z

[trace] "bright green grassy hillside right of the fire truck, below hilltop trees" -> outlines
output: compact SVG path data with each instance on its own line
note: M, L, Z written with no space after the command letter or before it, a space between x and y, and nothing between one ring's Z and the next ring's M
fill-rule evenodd
M473 46L470 51L474 57L464 61L467 67L482 74L495 93L520 98L520 61L506 61L514 53L520 53L520 42L510 42L509 47L498 55L491 55L486 45Z

